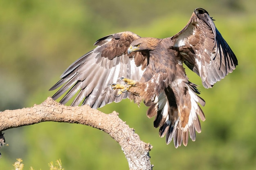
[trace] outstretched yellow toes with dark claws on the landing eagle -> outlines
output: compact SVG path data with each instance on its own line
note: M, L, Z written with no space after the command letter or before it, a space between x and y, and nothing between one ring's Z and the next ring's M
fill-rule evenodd
M111 84L112 90L120 89L120 91L117 92L117 97L119 97L122 93L129 91L129 89L136 83L135 80L127 79L124 77L120 78L119 80L124 80L125 84Z

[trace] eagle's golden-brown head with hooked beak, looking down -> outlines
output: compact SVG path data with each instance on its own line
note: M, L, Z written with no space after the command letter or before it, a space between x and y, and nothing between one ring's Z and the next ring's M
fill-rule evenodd
M158 38L138 38L130 44L127 53L136 51L152 51L158 45L161 39Z

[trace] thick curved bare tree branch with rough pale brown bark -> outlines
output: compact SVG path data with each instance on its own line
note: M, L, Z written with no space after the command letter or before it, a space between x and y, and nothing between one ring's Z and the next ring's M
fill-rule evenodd
M119 119L118 113L105 114L84 106L64 106L48 97L42 104L31 108L0 112L0 131L44 121L57 121L92 126L108 133L119 143L128 161L130 170L152 170L150 144L140 140L134 130ZM4 139L2 139L4 141Z

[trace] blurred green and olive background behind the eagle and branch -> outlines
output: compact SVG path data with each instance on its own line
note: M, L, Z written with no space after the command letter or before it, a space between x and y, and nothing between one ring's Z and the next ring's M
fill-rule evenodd
M116 110L153 145L154 169L255 170L255 0L0 0L0 110L31 107L53 95L48 89L99 38L121 31L170 37L197 7L216 20L239 65L212 89L204 89L186 69L206 101L206 121L196 141L177 149L166 145L143 104L138 108L126 99L100 110ZM5 137L9 146L1 148L0 170L13 169L16 158L23 159L26 170L47 170L47 163L57 159L65 170L128 170L117 142L88 126L44 122L6 130Z

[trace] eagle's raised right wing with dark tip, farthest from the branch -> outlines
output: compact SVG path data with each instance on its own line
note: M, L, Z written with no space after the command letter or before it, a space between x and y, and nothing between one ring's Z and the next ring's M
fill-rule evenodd
M238 61L204 9L195 9L188 24L172 37L184 63L201 79L205 88L231 73Z

